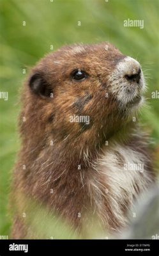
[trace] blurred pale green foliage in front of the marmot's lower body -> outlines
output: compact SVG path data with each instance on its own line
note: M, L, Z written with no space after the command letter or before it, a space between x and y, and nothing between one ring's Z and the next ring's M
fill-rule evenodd
M78 229L71 225L68 220L64 220L56 211L50 212L49 209L39 204L33 199L28 198L21 192L18 195L18 209L21 212L19 218L21 223L27 225L25 239L105 239L106 232L99 223L98 216L92 214L88 209L84 213L85 225ZM25 209L25 212L24 212ZM14 205L12 211L17 214L17 205ZM36 218L35 218L36 216Z

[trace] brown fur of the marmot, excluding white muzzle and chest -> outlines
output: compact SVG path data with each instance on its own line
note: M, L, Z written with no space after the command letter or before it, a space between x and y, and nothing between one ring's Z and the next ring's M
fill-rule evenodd
M13 238L37 238L22 218L27 206L22 202L21 194L46 205L50 212L57 212L72 228L77 228L79 234L89 218L87 211L90 214L95 211L99 216L107 213L107 217L102 217L105 230L119 230L123 226L110 207L109 196L102 196L105 188L111 191L109 178L96 172L93 164L102 156L103 150L109 150L105 141L109 141L109 145L111 141L118 141L146 156L149 154L144 138L141 136L139 140L132 135L136 124L129 120L124 110L119 112L118 102L111 95L108 77L125 56L114 46L107 45L109 51L105 50L105 44L63 47L43 58L24 85L20 115L22 147L13 174ZM75 52L75 47L81 47L82 51ZM73 80L70 74L79 68L89 74L89 79ZM41 97L31 91L29 81L34 74L43 79L53 98ZM106 99L107 92L109 97ZM69 122L70 115L90 116L89 126ZM22 121L23 117L26 122ZM122 165L122 156L116 153L116 157ZM153 180L149 157L146 166L150 180ZM100 192L91 185L96 180ZM137 184L135 188L138 189ZM50 189L54 189L53 194ZM125 216L131 204L126 199L126 191L123 193L121 197L125 198L125 203L121 204L121 209ZM102 205L102 210L96 202Z

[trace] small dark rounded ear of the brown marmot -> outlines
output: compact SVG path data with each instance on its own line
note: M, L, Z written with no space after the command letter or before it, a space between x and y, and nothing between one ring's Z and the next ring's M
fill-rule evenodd
M29 87L33 93L41 97L50 97L51 93L53 93L50 84L45 81L40 73L35 73L30 77Z

